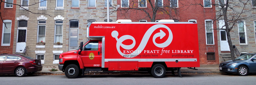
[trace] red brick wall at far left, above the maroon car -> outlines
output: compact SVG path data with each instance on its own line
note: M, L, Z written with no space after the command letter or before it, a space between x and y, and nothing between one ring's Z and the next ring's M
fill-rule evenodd
M16 4L16 0L13 0L13 3ZM14 26L15 26L15 14L16 14L16 5L13 5L13 8L4 8L4 3L1 4L1 16L3 20L12 20L11 27L11 38L10 46L2 46L2 31L3 31L3 21L0 20L0 54L13 52L13 37L14 37ZM0 18L1 19L1 18Z

